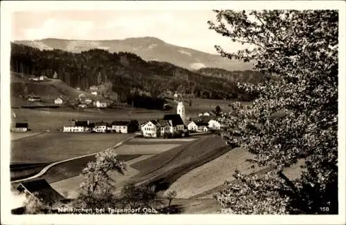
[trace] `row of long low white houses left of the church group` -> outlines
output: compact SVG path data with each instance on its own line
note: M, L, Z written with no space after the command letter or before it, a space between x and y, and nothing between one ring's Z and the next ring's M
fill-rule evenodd
M134 133L139 124L136 120L113 121L112 123L71 120L64 121L62 132L69 133Z

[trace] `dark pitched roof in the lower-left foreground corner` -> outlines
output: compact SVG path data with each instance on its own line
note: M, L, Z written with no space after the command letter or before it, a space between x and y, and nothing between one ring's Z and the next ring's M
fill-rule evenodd
M17 186L17 190L24 191L28 190L30 193L37 193L37 197L45 203L53 203L65 199L64 196L60 195L54 190L46 179L35 179L29 182L21 182Z

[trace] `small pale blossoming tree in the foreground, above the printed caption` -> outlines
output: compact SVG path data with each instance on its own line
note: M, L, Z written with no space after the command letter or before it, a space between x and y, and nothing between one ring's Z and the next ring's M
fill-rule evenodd
M111 207L116 202L113 194L114 186L111 184L115 181L108 175L111 170L124 174L126 166L109 148L98 153L95 161L89 162L82 170L84 182L81 184L82 191L75 204L81 207Z

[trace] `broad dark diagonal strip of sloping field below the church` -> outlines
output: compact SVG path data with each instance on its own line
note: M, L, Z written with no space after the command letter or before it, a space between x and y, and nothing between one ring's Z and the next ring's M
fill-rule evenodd
M132 167L140 171L133 177L136 183L153 183L157 190L165 190L181 175L228 152L224 140L216 135L204 136L197 141L167 150Z

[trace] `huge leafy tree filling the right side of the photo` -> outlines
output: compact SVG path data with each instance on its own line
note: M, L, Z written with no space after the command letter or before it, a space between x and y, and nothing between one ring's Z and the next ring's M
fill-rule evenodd
M253 153L253 164L273 166L264 177L235 173L216 195L230 213L338 213L338 12L336 10L215 10L210 29L248 45L229 59L250 61L270 75L239 88L259 96L223 115L227 144ZM280 117L277 117L280 113ZM275 116L276 114L276 116ZM284 168L304 159L300 177ZM237 204L234 204L237 202Z

